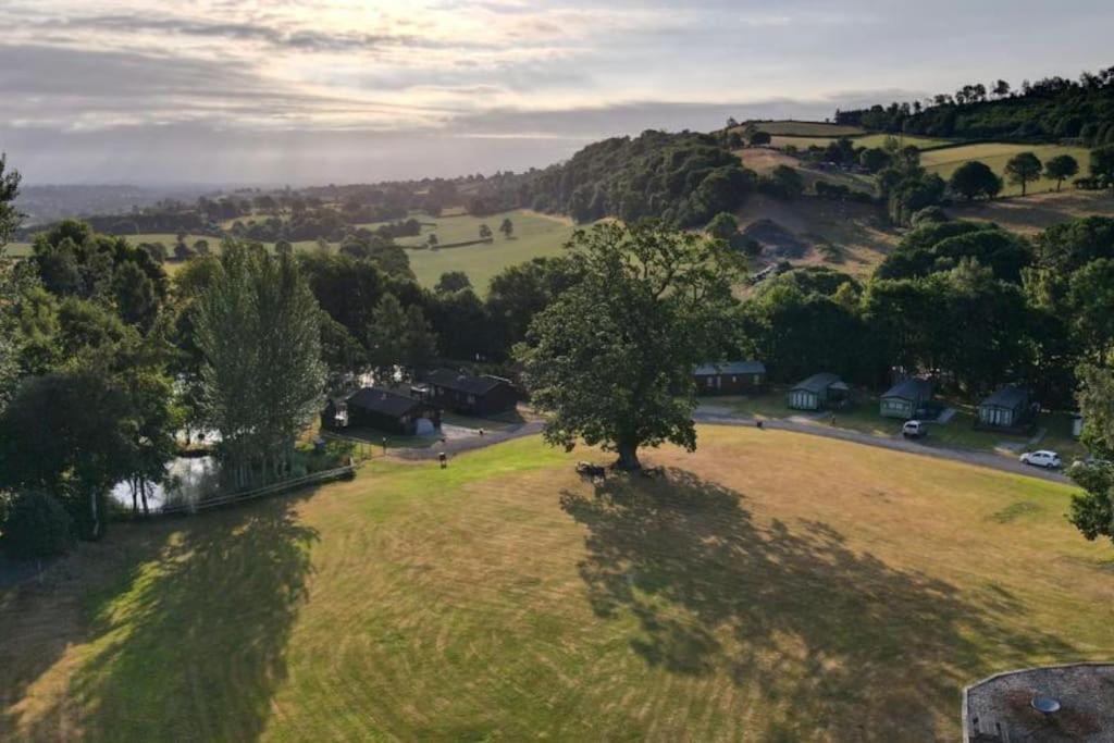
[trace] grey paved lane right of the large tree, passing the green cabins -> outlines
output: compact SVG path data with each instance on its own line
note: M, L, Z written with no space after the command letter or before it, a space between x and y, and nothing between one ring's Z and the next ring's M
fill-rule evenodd
M756 426L756 420L753 418L740 418L736 416L727 416L722 413L713 413L707 411L697 410L693 414L693 419L697 423L707 423L712 426ZM860 433L858 431L849 431L841 428L830 428L825 426L818 426L812 423L795 423L788 420L763 420L762 426L769 429L775 429L779 431L793 431L794 433L808 433L810 436L822 436L828 439L839 439L841 441L851 441L853 443L862 443L868 447L878 447L880 449L891 449L893 451L906 451L915 454L922 454L925 457L936 457L937 459L949 459L957 462L966 462L968 465L976 465L978 467L988 467L990 469L1000 470L1003 472L1013 472L1014 475L1026 475L1028 477L1042 478L1045 480L1052 480L1054 482L1071 482L1071 479L1057 472L1055 470L1044 470L1036 467L1029 467L1028 465L1023 465L1015 459L1008 457L1001 457L999 454L989 454L979 451L967 451L964 449L948 449L946 447L937 447L931 443L931 438L926 441L910 441L908 439L893 438L886 439L877 436L870 436L869 433Z

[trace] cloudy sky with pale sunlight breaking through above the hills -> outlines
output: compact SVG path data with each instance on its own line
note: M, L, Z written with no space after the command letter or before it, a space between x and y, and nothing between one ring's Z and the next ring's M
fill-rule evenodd
M1114 65L1110 0L0 0L0 150L27 184L521 170Z

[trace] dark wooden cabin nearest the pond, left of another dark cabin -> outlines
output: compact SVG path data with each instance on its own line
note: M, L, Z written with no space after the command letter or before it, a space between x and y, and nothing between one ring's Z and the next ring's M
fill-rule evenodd
M441 426L441 411L423 400L374 387L330 400L321 411L321 427L328 430L373 428L389 433L432 433Z

